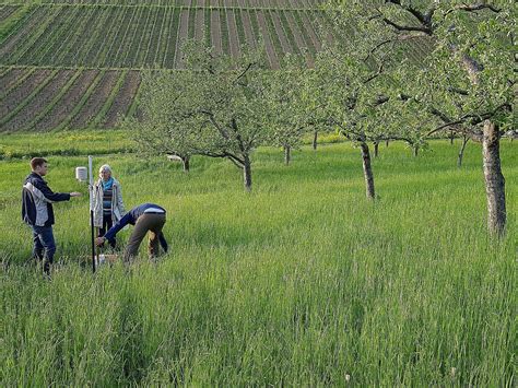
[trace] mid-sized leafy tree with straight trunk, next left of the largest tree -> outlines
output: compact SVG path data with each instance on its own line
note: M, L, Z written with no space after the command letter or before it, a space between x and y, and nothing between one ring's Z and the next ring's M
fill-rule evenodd
M356 33L365 32L358 27ZM365 50L354 52L346 43L327 47L317 56L306 93L316 120L337 128L360 148L368 199L376 196L368 142L379 143L399 133L393 133L395 126L384 122L379 114L380 107L390 103L381 92L393 82L386 77L386 68L395 62L388 48L385 55L374 57Z

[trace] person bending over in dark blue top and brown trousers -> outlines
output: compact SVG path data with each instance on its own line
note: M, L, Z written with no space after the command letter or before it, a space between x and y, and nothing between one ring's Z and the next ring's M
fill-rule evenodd
M97 246L102 246L105 240L114 240L116 234L126 225L134 225L133 233L128 240L126 246L123 260L130 262L133 257L139 252L140 243L150 232L149 252L150 258L153 259L158 256L158 245L162 246L164 251L167 251L167 242L165 240L162 228L166 221L166 211L164 208L154 203L143 203L131 209L126 215L120 219L103 237L96 238Z

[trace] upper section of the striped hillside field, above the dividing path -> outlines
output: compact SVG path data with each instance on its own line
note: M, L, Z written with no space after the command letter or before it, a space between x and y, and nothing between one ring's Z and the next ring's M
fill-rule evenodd
M320 23L325 20L319 11L38 7L0 42L0 64L181 68L180 47L186 37L228 55L262 37L272 68L284 52L307 51L310 64L320 47Z

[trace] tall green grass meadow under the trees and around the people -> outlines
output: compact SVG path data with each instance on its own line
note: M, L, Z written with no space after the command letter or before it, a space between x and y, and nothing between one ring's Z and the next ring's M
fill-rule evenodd
M1 140L7 157L26 153L21 139ZM89 142L66 148L105 152L106 142ZM95 275L80 266L89 210L73 169L86 157L51 156L50 187L85 193L55 205L51 281L26 261L28 160L0 161L0 381L516 386L518 145L502 144L508 231L499 242L485 228L480 145L468 145L462 169L458 145L435 141L419 157L380 146L375 203L349 143L304 146L289 167L280 150L259 150L251 195L226 161L193 157L185 174L164 158L96 156L97 167L113 166L128 208L168 210L172 251Z

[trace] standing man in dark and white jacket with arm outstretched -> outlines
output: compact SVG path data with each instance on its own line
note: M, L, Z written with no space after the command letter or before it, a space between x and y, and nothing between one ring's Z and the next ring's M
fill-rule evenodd
M33 230L33 258L43 260L46 274L50 274L56 243L54 239L52 202L68 201L80 197L80 192L54 192L44 180L48 173L47 161L43 157L31 160L32 173L25 178L22 190L22 219Z

